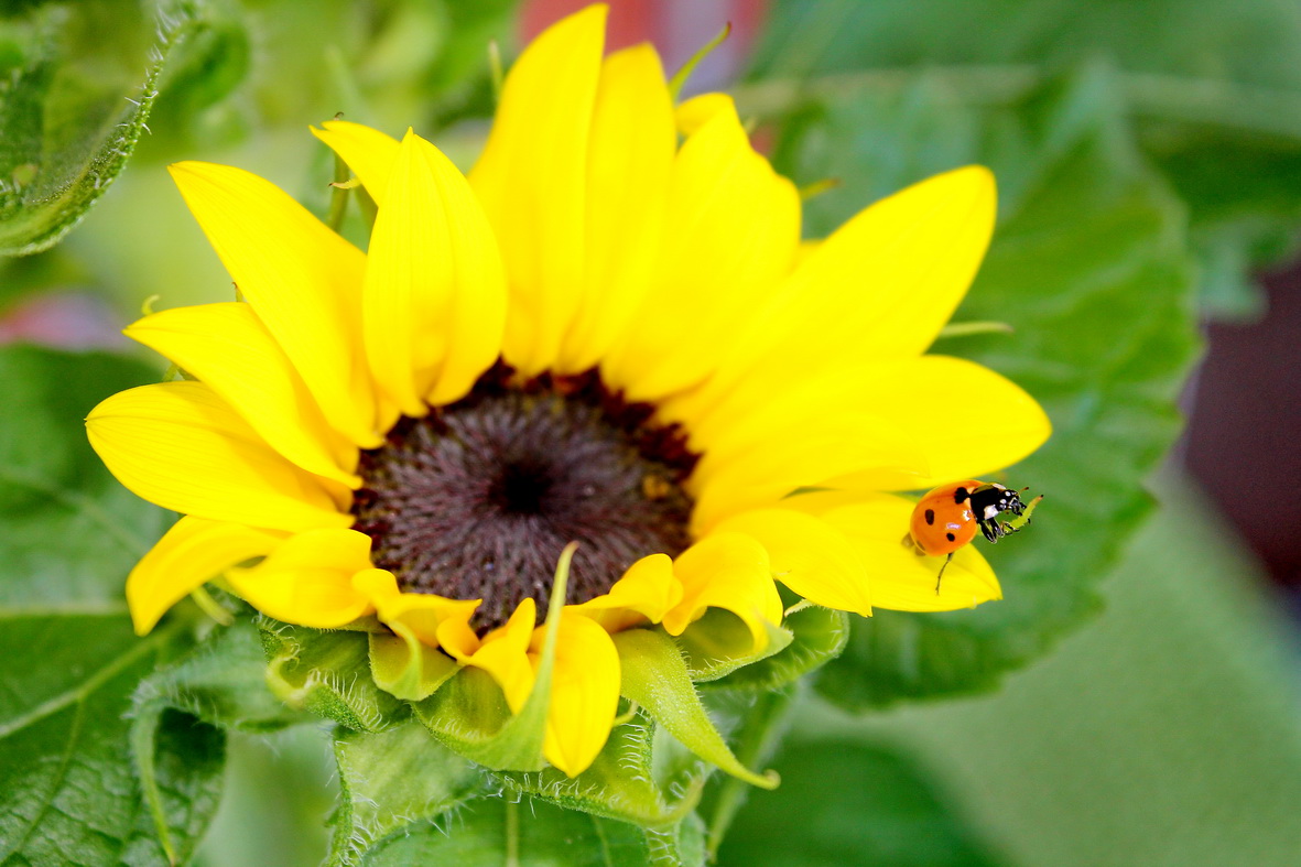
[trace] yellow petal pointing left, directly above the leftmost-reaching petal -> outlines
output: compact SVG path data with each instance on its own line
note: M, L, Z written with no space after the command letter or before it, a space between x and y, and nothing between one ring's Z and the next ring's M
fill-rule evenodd
M211 388L286 458L316 475L356 487L356 447L321 414L280 344L242 303L177 307L141 319L126 336Z

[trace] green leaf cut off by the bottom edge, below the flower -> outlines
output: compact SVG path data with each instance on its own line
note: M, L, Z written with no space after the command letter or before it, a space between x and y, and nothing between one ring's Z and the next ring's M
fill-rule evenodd
M654 844L652 842L654 841ZM622 821L562 810L543 801L481 798L442 827L418 825L367 854L367 867L639 867L665 858L661 838Z

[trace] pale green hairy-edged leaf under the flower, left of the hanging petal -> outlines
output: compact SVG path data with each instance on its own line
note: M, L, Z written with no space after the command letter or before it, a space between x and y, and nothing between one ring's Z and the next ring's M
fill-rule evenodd
M436 819L479 794L484 772L406 722L381 734L343 732L334 741L340 805L330 864L356 864L393 833Z

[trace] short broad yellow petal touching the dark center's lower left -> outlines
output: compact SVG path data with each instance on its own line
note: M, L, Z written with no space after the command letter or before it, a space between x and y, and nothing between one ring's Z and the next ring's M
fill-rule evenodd
M226 583L250 605L286 624L334 629L375 611L353 586L371 569L371 538L355 530L308 530L285 539L250 569L232 569Z

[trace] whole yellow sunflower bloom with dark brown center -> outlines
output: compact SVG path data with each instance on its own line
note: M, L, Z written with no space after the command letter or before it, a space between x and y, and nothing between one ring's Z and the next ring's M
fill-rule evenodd
M864 616L1000 596L972 547L937 595L891 493L1049 434L1012 383L924 354L987 246L991 174L801 243L731 99L675 105L650 47L602 56L605 14L524 51L468 176L410 130L312 130L377 204L366 253L268 181L170 168L242 301L130 325L189 376L87 419L112 473L183 516L127 578L141 634L217 581L288 624L373 618L518 712L550 607L544 751L574 776L615 720L617 633L718 609L761 651L778 585Z

